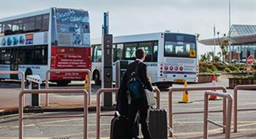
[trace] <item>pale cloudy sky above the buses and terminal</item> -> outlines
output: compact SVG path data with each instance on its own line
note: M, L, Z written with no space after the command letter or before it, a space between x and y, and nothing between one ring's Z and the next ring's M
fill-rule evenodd
M256 0L230 1L231 24L256 25ZM0 0L0 7L0 18L49 7L88 10L91 38L101 36L106 11L113 36L169 30L210 39L214 24L220 36L229 28L228 0ZM198 44L199 54L212 50Z

